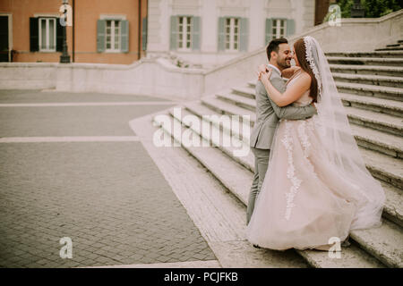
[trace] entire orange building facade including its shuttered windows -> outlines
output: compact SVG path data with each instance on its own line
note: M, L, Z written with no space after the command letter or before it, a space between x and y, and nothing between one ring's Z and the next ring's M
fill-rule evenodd
M68 2L66 39L73 63L129 64L144 55L147 0ZM59 62L62 4L62 0L0 1L0 61Z

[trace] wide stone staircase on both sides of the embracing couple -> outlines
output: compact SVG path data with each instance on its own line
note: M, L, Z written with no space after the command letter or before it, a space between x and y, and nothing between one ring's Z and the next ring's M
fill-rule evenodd
M386 193L382 226L371 230L352 231L351 245L342 248L340 259L330 259L328 253L316 250L296 250L313 267L402 267L403 266L403 50L388 46L373 53L327 54L330 69L346 107L367 169L381 181ZM390 47L393 47L391 49ZM190 132L194 139L209 142L210 147L182 147L203 164L214 177L246 207L253 181L254 158L234 156L239 146L248 147L248 136L225 124L219 117L249 115L244 124L255 122L255 81L243 86L202 97L200 101L184 103L181 114L174 108L167 111L171 126ZM178 106L176 106L178 107ZM201 126L189 120L192 116L204 120L221 138L202 132ZM216 115L208 118L203 115ZM154 120L172 138L180 141L181 134ZM183 133L182 133L183 134ZM224 139L232 139L238 147L228 147ZM234 144L233 144L234 145Z

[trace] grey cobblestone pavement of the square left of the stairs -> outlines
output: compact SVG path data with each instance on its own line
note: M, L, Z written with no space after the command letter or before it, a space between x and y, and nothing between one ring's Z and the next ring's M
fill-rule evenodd
M0 105L62 97L157 100L0 91ZM0 106L0 137L133 136L130 119L168 106ZM216 259L140 142L0 143L0 158L1 267ZM59 256L63 237L73 240L72 259Z

